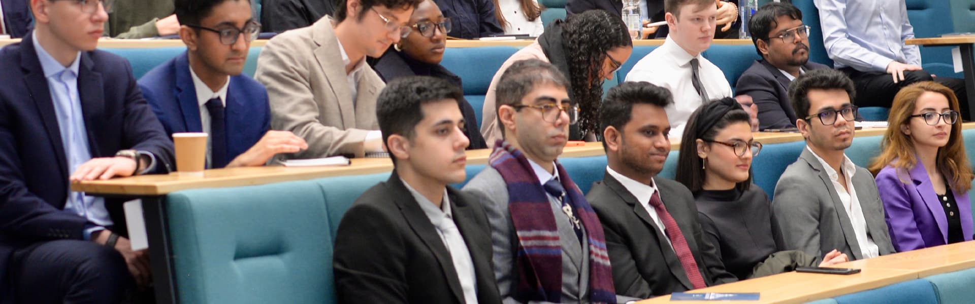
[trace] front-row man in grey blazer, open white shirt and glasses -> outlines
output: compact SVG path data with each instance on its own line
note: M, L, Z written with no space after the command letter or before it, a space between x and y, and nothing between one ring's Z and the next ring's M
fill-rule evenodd
M853 140L853 88L833 69L806 72L789 86L806 148L775 186L772 220L783 249L822 256L837 248L851 260L894 252L874 175L843 154Z

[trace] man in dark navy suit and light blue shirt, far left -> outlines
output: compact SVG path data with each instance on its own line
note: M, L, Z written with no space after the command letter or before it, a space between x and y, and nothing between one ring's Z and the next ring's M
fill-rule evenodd
M119 204L69 181L169 171L173 143L128 61L95 50L101 1L30 6L34 30L0 50L0 302L117 303L148 254Z

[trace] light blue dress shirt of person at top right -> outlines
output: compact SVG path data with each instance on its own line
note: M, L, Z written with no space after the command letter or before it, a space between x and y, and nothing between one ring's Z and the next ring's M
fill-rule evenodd
M939 0L944 1L944 0ZM920 66L904 0L814 0L826 53L837 68L886 72L891 61Z

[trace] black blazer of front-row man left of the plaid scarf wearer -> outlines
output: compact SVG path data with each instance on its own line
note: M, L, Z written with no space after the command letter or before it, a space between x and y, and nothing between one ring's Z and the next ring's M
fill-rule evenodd
M478 302L500 303L485 210L468 194L447 192L474 261ZM395 170L345 212L332 264L338 303L463 303L447 247Z

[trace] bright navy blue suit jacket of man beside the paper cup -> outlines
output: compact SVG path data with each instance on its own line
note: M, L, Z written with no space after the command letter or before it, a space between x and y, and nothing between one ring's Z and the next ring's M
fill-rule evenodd
M166 133L203 132L200 103L185 52L145 73L138 79L138 86ZM230 77L225 103L229 161L254 146L271 129L271 107L264 86L244 74Z

